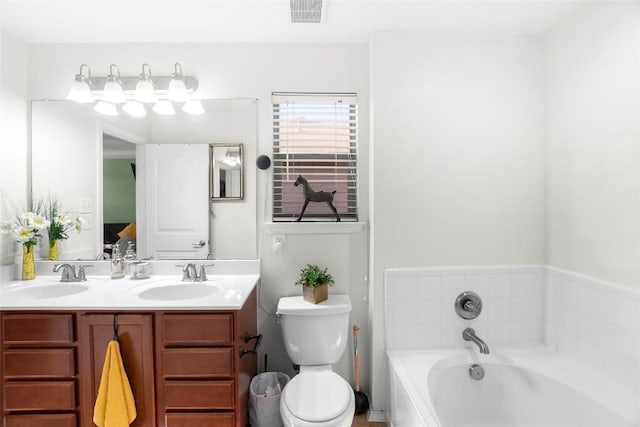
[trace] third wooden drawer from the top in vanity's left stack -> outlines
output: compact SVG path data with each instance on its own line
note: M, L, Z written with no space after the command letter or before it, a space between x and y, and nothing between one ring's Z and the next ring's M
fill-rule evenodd
M4 383L5 411L73 411L76 390L73 381Z

